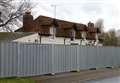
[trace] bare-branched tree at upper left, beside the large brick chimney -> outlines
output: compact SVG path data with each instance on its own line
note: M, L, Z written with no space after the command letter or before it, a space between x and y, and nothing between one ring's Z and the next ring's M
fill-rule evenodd
M29 0L1 0L0 1L0 30L12 32L21 24L21 17L26 10L31 9Z

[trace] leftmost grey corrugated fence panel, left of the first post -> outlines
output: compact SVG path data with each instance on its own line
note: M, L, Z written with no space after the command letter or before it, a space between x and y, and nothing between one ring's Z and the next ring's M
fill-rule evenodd
M0 60L0 77L17 76L17 43L2 43Z

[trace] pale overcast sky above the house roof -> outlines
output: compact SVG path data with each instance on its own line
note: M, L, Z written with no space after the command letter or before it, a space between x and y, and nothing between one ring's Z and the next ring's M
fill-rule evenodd
M34 6L34 17L45 15L54 17L54 7L57 5L56 18L87 24L97 19L104 20L105 30L120 29L119 0L31 0Z

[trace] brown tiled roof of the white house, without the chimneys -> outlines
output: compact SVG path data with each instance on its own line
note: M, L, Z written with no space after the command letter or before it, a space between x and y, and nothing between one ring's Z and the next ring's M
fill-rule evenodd
M76 37L81 38L81 31L86 31L89 33L88 39L95 39L95 35L91 35L90 33L97 33L97 28L88 28L85 24L74 23L64 20L56 19L58 27L56 28L56 36L59 37L70 37L69 31L70 29L75 29ZM50 35L49 28L54 26L54 18L47 16L39 16L34 20L34 28L29 28L28 31L24 30L24 27L16 30L16 32L39 32L41 35Z

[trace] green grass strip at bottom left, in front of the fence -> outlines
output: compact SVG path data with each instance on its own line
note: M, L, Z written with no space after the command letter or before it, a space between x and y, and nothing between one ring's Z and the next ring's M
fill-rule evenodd
M31 78L0 78L0 83L35 83Z

